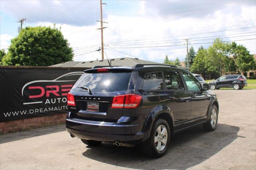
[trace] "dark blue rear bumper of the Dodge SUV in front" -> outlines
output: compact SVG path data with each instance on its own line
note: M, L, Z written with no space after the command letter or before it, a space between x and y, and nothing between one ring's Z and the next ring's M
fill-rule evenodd
M66 130L86 140L139 144L142 143L144 133L138 129L139 125L99 124L81 119L66 119Z

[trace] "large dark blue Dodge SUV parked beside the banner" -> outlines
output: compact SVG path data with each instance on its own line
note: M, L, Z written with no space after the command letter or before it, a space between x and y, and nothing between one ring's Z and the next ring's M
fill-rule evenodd
M173 134L216 129L219 105L209 88L172 65L88 69L68 93L66 130L89 146L141 144L160 157Z

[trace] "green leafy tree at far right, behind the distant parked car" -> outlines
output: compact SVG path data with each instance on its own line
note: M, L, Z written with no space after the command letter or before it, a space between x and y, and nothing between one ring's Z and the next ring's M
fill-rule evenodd
M246 72L254 69L255 60L253 55L250 55L250 51L243 45L237 45L236 42L232 42L229 45L229 53L233 62L233 69L238 72Z

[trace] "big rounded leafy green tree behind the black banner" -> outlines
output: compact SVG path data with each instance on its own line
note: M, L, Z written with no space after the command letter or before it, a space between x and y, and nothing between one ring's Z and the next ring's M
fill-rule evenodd
M73 49L58 28L26 27L11 40L4 65L49 66L72 61Z

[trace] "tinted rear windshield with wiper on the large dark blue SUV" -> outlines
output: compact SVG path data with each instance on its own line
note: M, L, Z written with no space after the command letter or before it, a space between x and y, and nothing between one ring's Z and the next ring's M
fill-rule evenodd
M72 88L75 91L114 92L128 89L131 72L128 73L84 73Z

